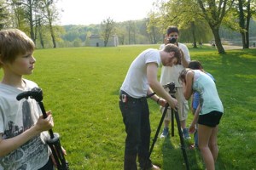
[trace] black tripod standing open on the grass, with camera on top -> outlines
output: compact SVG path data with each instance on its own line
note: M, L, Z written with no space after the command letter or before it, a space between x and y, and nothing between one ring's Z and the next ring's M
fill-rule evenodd
M176 93L176 90L175 90L174 82L168 83L167 85L165 85L163 87L164 88L169 88L169 94L172 96L172 98L175 98L174 94ZM152 95L154 95L154 94L149 94L149 97L151 97ZM158 138L158 135L160 133L160 128L161 128L162 123L164 122L164 119L165 119L168 107L169 107L169 104L167 103L166 106L165 106L165 110L164 110L164 112L163 112L163 114L161 116L161 119L160 119L160 122L159 122L159 126L157 127L156 133L154 134L154 139L153 139L153 143L152 143L152 145L150 147L150 150L149 150L148 159L151 156L151 153L152 153L152 151L154 149L154 144L155 144L155 142L156 142L156 140ZM182 130L181 130L179 116L178 116L177 111L172 109L172 136L174 136L174 116L175 116L176 123L177 123L177 130L178 130L178 135L179 135L179 139L180 139L181 150L183 152L183 159L185 161L187 170L189 170L189 160L188 160L187 152L185 150L185 143L184 143L184 139L183 139L183 133L182 133Z

